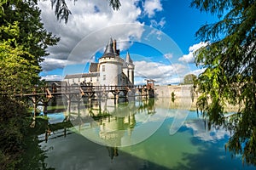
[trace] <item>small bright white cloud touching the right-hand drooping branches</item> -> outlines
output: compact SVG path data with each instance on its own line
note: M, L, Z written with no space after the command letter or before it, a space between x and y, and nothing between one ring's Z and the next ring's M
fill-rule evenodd
M181 58L179 58L179 61L183 61L186 63L194 63L195 62L195 55L194 52L202 47L207 46L208 42L200 42L197 44L194 44L193 46L189 47L189 54L184 54Z

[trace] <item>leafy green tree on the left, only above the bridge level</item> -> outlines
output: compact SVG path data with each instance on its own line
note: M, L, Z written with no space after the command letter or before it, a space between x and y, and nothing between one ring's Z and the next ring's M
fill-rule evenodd
M40 71L39 63L43 61L42 57L47 55L46 48L49 45L55 45L56 42L59 41L59 38L52 36L50 32L44 29L44 25L40 19L40 10L37 7L37 3L34 1L5 1L5 3L1 5L3 11L0 13L0 39L3 46L9 46L9 51L6 51L6 48L3 52L11 55L11 50L18 50L19 54L15 53L15 55L20 59L24 59L24 62L26 60L27 66L31 66L31 69L27 71L38 75ZM5 57L3 59L16 59L16 61L19 62L19 59L15 56L10 58ZM6 61L11 62L11 60ZM9 73L11 72L14 73L15 70L9 70ZM25 72L25 70L23 72ZM20 74L19 71L16 71L16 73ZM1 82L5 82L8 78L11 78L7 77L7 75L8 74L6 74ZM16 74L13 74L13 76L15 75ZM26 78L24 81L28 82ZM22 84L22 79L19 80L21 83L17 84ZM31 83L36 84L38 80L38 76L33 76ZM14 82L14 84L15 83L16 82Z

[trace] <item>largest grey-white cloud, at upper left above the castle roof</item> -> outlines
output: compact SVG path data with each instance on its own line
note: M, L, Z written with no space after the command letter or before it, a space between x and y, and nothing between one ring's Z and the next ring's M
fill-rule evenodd
M69 54L73 48L77 47L84 37L90 37L91 33L96 32L96 36L90 37L90 42L84 44L83 51L74 54L81 54L77 61L81 62L84 58L90 58L96 50L104 48L109 37L117 38L118 41L129 41L131 38L139 39L143 33L143 24L137 19L142 13L142 9L137 6L136 1L124 0L118 11L113 11L109 7L108 1L67 1L67 5L72 11L67 25L56 20L54 10L49 10L50 1L40 1L38 6L42 10L41 18L44 27L51 31L61 41L55 47L49 48L48 59L45 59L43 69L54 70L63 68L68 63ZM151 6L152 10L154 7ZM155 10L159 10L156 6ZM127 26L125 25L127 23ZM134 24L134 25L132 25ZM112 26L112 27L111 27ZM119 48L128 48L127 43L119 44ZM54 62L49 62L55 59ZM86 60L86 59L85 59Z

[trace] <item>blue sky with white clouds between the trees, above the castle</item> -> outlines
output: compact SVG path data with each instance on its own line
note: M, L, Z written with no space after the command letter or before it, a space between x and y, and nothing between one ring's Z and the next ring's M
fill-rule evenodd
M117 40L120 57L127 51L135 65L135 83L154 79L156 84L177 84L187 74L204 71L196 67L196 49L206 42L195 32L216 16L189 7L190 0L120 0L114 11L107 0L67 0L72 14L67 24L57 21L50 1L40 1L47 31L61 41L48 48L40 76L62 80L67 74L87 72L90 62L102 56L110 37Z

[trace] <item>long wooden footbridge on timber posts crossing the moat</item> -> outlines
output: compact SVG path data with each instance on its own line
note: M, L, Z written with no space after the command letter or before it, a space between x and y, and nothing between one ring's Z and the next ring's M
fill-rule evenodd
M34 87L31 92L26 94L18 94L18 97L26 97L32 101L34 108L34 116L36 116L38 105L44 106L44 114L47 114L47 106L50 99L56 96L62 96L67 99L67 111L70 111L71 103L78 102L83 98L91 99L114 99L116 104L119 98L144 96L146 98L154 97L154 86L147 85L139 86L93 86L93 85L67 85L61 86L52 84L51 87Z

